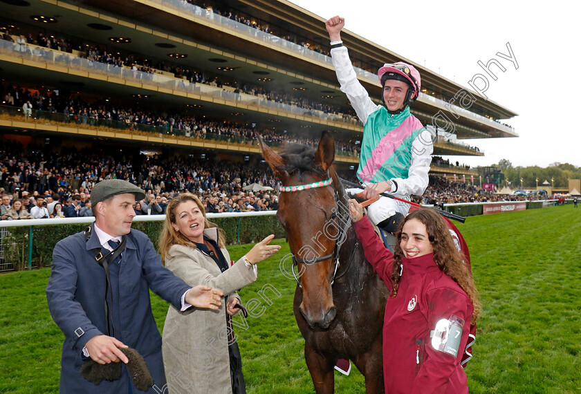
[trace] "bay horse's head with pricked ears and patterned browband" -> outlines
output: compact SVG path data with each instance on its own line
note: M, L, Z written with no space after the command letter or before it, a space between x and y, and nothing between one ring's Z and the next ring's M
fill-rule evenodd
M299 310L311 328L328 328L336 314L331 282L342 226L335 200L335 189L342 186L331 167L335 143L324 133L316 151L295 146L279 155L262 142L261 147L284 185L277 216L298 265L303 292Z

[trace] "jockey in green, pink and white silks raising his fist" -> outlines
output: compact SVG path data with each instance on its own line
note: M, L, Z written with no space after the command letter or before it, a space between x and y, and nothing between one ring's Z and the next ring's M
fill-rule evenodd
M382 66L378 78L385 106L375 104L358 81L347 48L342 44L340 32L344 24L344 18L333 17L325 26L341 91L364 124L357 170L365 186L362 197L367 199L389 191L409 201L412 194L421 196L427 187L434 149L432 135L409 111L409 104L420 93L420 73L403 62ZM380 197L367 207L367 214L374 225L394 232L408 210L405 201Z

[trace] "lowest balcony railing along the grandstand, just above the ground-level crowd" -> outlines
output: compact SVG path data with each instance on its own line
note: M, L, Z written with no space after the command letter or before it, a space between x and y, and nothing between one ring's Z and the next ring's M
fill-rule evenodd
M0 120L17 120L19 122L35 122L40 124L53 124L53 122L62 124L63 126L75 126L80 129L97 129L104 128L104 131L123 131L130 134L151 134L159 137L177 137L183 140L193 140L198 142L223 143L223 144L237 144L243 146L255 146L259 144L257 138L246 138L236 135L221 135L218 133L201 133L196 135L195 131L187 131L185 129L178 129L177 127L170 128L169 126L154 126L151 124L140 124L131 122L129 120L111 120L100 119L86 114L65 114L49 111L39 111L33 109L30 116L25 116L23 109L17 106L0 105ZM268 137L267 137L268 138ZM266 140L265 143L269 147L280 147L284 142L271 142ZM356 151L343 151L336 149L337 156L347 156L352 158L359 157Z

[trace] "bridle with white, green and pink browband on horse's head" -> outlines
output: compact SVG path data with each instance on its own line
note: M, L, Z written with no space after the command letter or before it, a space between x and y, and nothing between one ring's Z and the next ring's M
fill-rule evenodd
M327 172L327 176L329 176L329 172ZM297 185L297 186L283 186L281 187L280 191L282 192L294 192L294 191L303 191L303 190L310 190L310 189L315 189L317 187L332 187L333 185L333 178L331 178L329 176L329 178L327 180L321 180L318 182L313 182L313 183L309 183L307 185ZM335 247L333 248L333 252L330 254L326 254L324 256L319 256L316 259L302 259L300 257L296 257L293 254L293 267L291 268L292 272L293 272L293 276L295 278L295 280L297 281L298 285L300 288L302 288L302 284L301 281L299 280L300 276L297 276L297 274L295 274L295 266L298 265L298 263L302 263L302 264L315 264L315 263L320 263L321 261L326 261L329 259L333 259L334 261L334 265L335 268L333 270L333 276L331 278L331 285L333 285L333 283L335 283L336 280L340 279L344 274L347 273L347 270L349 270L349 266L351 265L351 260L353 260L353 255L355 254L355 251L357 250L357 246L359 241L356 242L356 245L353 247L353 251L351 252L351 256L349 257L349 261L347 261L347 268L345 268L344 272L342 272L342 274L340 274L339 276L337 276L337 272L339 270L339 252L341 250L341 246L343 245L345 239L347 237L347 231L349 230L349 227L351 227L351 216L349 215L349 212L344 212L344 207L342 207L342 205L339 203L340 202L340 196L339 196L339 192L338 189L335 189L335 203L337 203L338 206L338 210L337 210L337 214L335 214L335 212L333 212L333 214L331 214L331 218L337 220L339 223L342 223L342 221L340 219L343 219L345 225L344 227L340 228L340 236L338 237L338 240L335 241ZM339 218L337 218L339 216Z

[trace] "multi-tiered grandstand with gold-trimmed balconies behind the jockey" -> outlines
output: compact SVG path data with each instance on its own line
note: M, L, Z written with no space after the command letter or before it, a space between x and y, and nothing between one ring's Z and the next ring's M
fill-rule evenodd
M0 1L4 142L251 165L261 160L257 135L274 146L314 144L330 131L338 167L354 173L362 125L339 91L324 20L293 3ZM380 103L375 71L402 58L356 34L342 38ZM460 140L517 136L499 122L513 111L480 98L468 105L463 86L403 60L422 75L412 113L439 126L434 156L483 156ZM25 93L41 97L29 116ZM443 159L431 172L477 175Z

